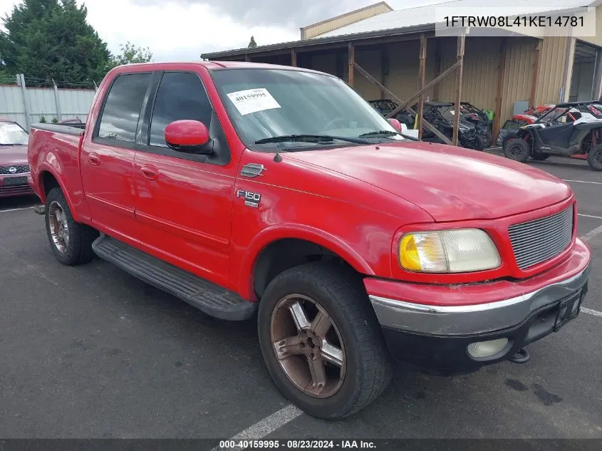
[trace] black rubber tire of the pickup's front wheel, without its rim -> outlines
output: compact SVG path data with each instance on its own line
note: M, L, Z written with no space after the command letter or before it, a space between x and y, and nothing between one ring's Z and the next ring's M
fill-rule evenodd
M343 418L365 408L390 383L392 366L380 325L361 283L348 271L321 262L288 269L270 282L259 303L258 329L263 353L274 383L294 404L324 420ZM271 336L272 313L286 296L315 299L340 332L346 373L342 385L328 398L303 393L284 372Z

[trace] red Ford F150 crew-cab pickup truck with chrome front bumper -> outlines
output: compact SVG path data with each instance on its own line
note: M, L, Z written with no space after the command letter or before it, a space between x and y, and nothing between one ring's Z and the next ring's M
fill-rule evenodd
M84 131L32 128L29 182L58 261L97 254L214 317L256 316L279 389L340 418L391 358L526 361L587 290L568 185L400 130L325 73L121 66Z

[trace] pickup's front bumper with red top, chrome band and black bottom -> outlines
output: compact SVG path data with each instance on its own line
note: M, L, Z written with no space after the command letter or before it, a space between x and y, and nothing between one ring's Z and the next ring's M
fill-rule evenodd
M576 318L587 292L589 261L588 248L577 240L569 258L524 281L442 286L365 279L365 286L395 358L465 373L507 360ZM386 284L395 284L393 299L383 296ZM400 299L403 292L410 299ZM474 358L467 352L470 343L497 338L508 343L493 356Z

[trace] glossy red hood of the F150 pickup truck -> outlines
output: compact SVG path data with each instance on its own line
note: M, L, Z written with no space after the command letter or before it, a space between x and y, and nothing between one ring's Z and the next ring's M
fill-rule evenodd
M428 142L287 154L375 185L437 222L493 219L561 202L571 188L547 172L485 152Z

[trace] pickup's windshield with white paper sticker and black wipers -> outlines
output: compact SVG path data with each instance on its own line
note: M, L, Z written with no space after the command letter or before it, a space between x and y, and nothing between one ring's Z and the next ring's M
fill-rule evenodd
M332 138L328 145L346 146L403 140L388 120L332 76L286 69L220 69L212 71L212 78L234 128L251 149L324 146L325 140L305 139L309 135Z

